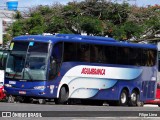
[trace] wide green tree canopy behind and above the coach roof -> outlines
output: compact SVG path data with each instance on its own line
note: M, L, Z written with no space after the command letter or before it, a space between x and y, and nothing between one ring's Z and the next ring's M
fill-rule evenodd
M139 39L160 31L160 6L137 7L106 0L69 2L67 5L37 6L23 18L20 12L8 29L14 37L25 33L87 33L116 39Z

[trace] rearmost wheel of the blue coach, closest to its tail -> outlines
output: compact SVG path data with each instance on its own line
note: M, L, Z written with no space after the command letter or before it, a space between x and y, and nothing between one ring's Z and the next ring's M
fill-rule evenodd
M136 92L136 90L133 90L131 93L130 100L129 100L129 106L137 106L138 96L139 94Z

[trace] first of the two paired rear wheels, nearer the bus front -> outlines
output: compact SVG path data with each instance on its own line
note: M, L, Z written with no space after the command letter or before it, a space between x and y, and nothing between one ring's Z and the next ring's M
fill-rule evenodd
M127 103L128 103L128 92L127 90L123 89L119 97L118 105L126 106Z

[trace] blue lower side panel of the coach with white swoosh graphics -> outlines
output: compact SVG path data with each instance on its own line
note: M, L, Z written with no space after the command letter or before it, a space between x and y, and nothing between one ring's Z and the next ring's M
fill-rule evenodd
M68 62L63 64L62 68L62 80L57 90L57 97L63 84L68 85L70 98L119 100L123 88L128 90L129 95L133 89L138 89L142 101L155 97L156 80L153 81L152 78L155 78L156 73L153 71L153 67L78 65ZM90 73L83 75L83 68L105 69L106 74L98 77L96 75L91 76ZM110 69L113 71L111 72ZM108 75L113 78L107 78Z

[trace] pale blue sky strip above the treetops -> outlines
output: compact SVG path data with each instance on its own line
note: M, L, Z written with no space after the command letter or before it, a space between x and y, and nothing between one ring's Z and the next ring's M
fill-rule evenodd
M8 0L0 0L0 7L6 6L6 2ZM13 0L12 0L13 1ZM27 8L27 7L32 7L36 5L52 5L54 3L61 3L61 4L67 4L68 2L72 1L83 1L83 0L18 0L18 8ZM125 0L112 0L116 1L118 3L121 3ZM160 0L128 0L130 4L136 4L137 6L147 6L147 5L155 5L158 4L160 5Z

